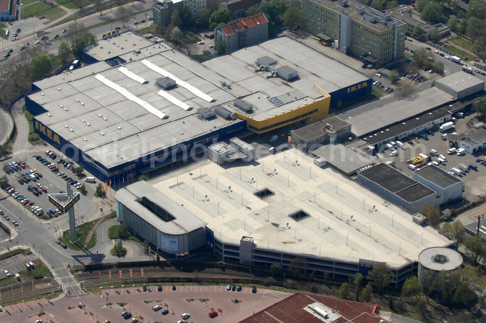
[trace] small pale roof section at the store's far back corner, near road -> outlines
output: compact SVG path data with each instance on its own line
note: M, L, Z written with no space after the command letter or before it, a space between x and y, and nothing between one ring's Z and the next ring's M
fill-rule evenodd
M102 38L87 46L83 51L99 61L104 61L150 45L154 45L154 43L133 31L128 31L117 34L117 36Z

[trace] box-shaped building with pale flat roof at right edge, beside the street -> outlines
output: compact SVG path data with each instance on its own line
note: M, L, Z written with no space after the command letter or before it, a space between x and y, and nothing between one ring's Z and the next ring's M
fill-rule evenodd
M474 75L460 71L436 80L435 87L457 99L462 99L484 90L485 82Z

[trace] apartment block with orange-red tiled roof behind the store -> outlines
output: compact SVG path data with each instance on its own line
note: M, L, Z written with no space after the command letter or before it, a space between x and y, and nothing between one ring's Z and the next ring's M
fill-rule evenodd
M253 46L268 40L268 20L264 14L239 19L218 26L214 30L218 41L222 37L226 44L226 53L231 53L244 47Z

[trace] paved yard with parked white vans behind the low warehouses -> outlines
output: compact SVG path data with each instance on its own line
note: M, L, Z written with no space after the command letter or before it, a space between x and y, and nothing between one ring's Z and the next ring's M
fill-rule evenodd
M472 115L466 114L464 118L458 118L457 122L455 123L455 128L446 131L445 133L457 133L462 134L468 131L467 123L472 119ZM440 165L439 167L446 172L450 172L452 167L459 168L459 163L463 163L466 165L469 164L476 164L478 166L478 170L469 170L466 172L466 175L454 175L464 181L464 193L463 197L465 197L469 201L477 200L477 194L485 194L486 192L486 167L481 165L479 162L476 162L476 159L484 160L484 156L486 151L480 151L474 155L470 155L466 153L463 156L458 156L457 154L449 155L447 154L447 150L451 148L449 146L449 142L443 140L442 132L438 130L438 128L434 128L430 130L430 134L428 134L428 139L422 139L419 137L416 138L409 138L413 144L404 143L403 148L398 148L398 156L390 157L389 152L390 150L385 150L382 154L380 154L380 160L382 162L386 161L395 161L395 167L402 171L409 177L412 177L413 170L408 168L409 163L407 162L408 159L417 157L418 154L422 153L429 156L429 153L432 149L436 150L439 155L444 155L447 158L447 162L445 165ZM432 157L432 160L437 160L437 157Z

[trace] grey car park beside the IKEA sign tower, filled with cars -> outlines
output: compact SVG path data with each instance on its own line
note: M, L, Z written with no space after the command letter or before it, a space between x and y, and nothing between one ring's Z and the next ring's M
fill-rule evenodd
M46 166L46 165L42 164L40 161L36 160L35 159L36 156L42 156L43 158L46 158L51 163L54 163L57 166L58 171L52 172L48 168L48 166ZM64 172L67 176L71 177L72 179L82 181L82 180L76 178L73 171L68 170L62 164L57 163L57 161L60 158L61 157L56 156L56 158L54 160L52 160L51 158L47 158L47 156L45 154L37 152L37 154L32 154L31 156L25 156L25 154L23 154L23 156L18 157L15 160L11 159L11 160L4 161L3 165L2 165L2 171L5 174L4 170L6 168L9 168L8 163L12 163L13 161L18 163L18 162L20 162L20 159L22 159L21 160L22 162L25 162L25 168L24 169L21 169L17 172L14 172L13 174L6 175L7 179L9 180L10 186L15 189L14 192L18 192L24 198L29 198L29 201L34 202L33 205L39 206L43 209L43 218L45 218L45 219L47 219L47 218L55 219L55 217L56 217L55 215L50 215L50 216L48 215L48 211L50 209L55 209L55 207L48 201L47 195L52 194L52 193L59 193L61 191L67 190L67 182L64 179L62 179L60 176L58 176L58 172ZM73 166L75 167L77 165L73 165ZM30 172L30 170L34 170L34 169L37 170L37 172L39 173L38 176L39 177L42 176L42 177L39 178L38 180L36 179L35 181L34 181L34 179L32 179L31 181L29 181L27 183L20 184L18 179L21 178L21 175L22 174L25 175L26 172ZM39 185L42 186L42 189L44 189L44 192L39 187ZM29 190L29 188L28 188L29 186L32 187L32 190ZM95 184L86 183L85 186L86 186L86 189L87 189L87 192L88 192L86 198L92 197L94 190L95 190ZM34 187L37 189L36 192L37 192L38 196L35 196L35 194L34 194L34 191L35 191ZM71 190L74 191L74 192L77 192L77 189L73 185L71 185ZM12 194L10 194L10 195L12 195ZM13 199L14 197L11 196L10 198ZM18 207L20 207L20 208L25 207L24 205L22 205L22 203L18 199L16 199L15 202L17 203ZM86 203L86 204L83 205L83 207L81 209L78 209L78 207L79 207L79 205L76 204L75 209L74 209L78 223L83 222L83 217L85 217L86 215L91 216L91 215L96 214L97 207L93 203ZM34 215L32 212L30 212L30 209L29 209L28 213L31 214L32 216L36 217L36 215ZM59 217L63 217L63 216L67 216L67 214L59 215ZM39 218L39 221L40 221L40 218ZM21 221L19 221L19 224L21 224Z

